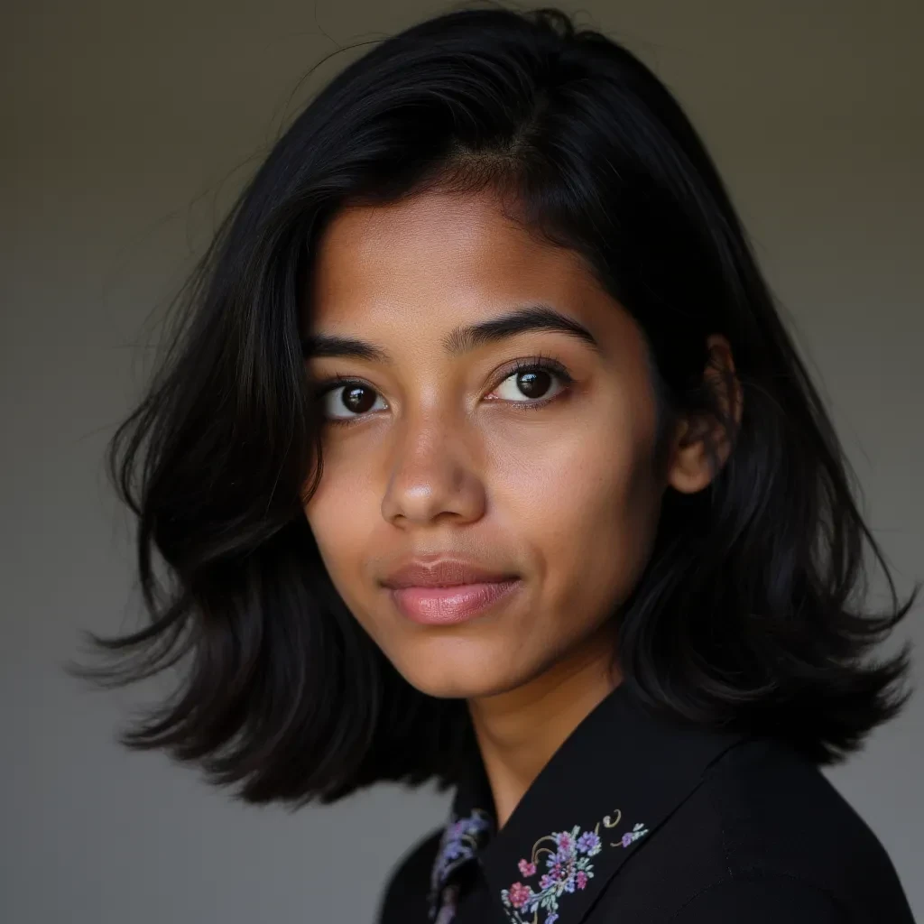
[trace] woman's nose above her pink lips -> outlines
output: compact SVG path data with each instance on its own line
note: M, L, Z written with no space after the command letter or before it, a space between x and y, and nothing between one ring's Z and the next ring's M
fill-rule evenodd
M465 425L430 414L396 430L383 517L398 527L479 519L486 493Z

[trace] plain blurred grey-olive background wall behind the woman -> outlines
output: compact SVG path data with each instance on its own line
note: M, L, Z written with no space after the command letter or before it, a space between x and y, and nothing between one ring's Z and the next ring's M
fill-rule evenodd
M164 687L85 692L79 626L137 623L100 464L152 323L335 57L444 8L18 0L0 13L0 919L366 921L446 797L244 808L113 743ZM830 395L902 589L924 576L919 0L586 0L675 90ZM290 99L291 97L291 99ZM920 610L907 635L924 641ZM896 639L900 640L900 639ZM917 665L920 682L922 663ZM924 693L830 772L924 918ZM794 834L799 820L793 819Z

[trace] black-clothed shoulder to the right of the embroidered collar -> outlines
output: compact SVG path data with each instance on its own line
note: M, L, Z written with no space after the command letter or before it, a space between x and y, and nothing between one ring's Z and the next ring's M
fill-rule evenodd
M913 921L866 821L815 764L769 739L725 751L638 854L609 891L639 920Z

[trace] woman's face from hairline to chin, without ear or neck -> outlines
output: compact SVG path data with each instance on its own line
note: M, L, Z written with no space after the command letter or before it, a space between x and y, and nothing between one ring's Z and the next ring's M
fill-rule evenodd
M586 653L666 485L637 324L488 194L339 213L315 271L311 378L347 382L323 386L305 512L351 612L432 696L502 693Z

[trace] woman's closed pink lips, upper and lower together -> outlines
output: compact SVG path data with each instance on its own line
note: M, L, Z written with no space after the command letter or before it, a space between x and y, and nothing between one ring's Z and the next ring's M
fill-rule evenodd
M425 626L449 626L483 614L521 585L517 575L502 574L464 559L416 559L383 581L395 605L408 619Z

